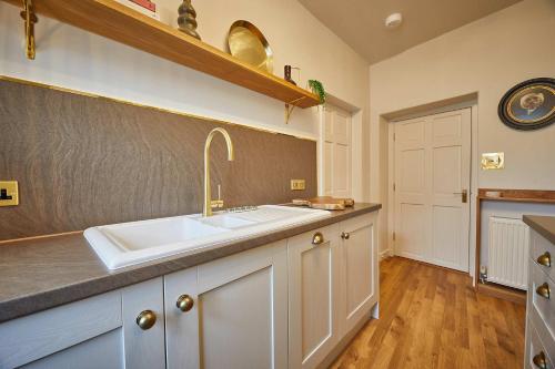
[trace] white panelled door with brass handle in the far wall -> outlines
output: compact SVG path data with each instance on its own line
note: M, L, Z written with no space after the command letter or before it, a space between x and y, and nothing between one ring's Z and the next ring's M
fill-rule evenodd
M468 271L471 109L395 123L395 252Z

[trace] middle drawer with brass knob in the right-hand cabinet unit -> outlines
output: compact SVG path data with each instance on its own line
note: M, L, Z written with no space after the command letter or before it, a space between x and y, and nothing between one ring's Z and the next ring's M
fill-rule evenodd
M529 303L537 311L552 337L555 332L555 283L539 268L536 263L531 263L532 285ZM542 295L544 294L544 296Z

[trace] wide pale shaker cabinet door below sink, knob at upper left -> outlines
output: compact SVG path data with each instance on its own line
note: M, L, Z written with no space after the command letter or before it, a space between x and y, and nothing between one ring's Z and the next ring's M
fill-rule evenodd
M167 276L165 308L169 368L286 368L286 242Z

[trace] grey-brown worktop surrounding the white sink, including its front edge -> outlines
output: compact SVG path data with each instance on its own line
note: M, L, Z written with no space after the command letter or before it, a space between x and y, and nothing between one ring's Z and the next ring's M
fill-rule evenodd
M0 243L0 322L160 277L221 257L375 212L381 204L356 204L329 218L109 270L82 232ZM555 229L555 225L554 228Z

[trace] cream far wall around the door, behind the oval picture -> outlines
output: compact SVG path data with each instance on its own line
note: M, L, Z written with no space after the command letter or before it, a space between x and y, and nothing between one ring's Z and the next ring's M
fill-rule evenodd
M385 202L386 194L381 116L472 93L478 96L478 153L505 152L506 158L503 171L478 171L477 185L555 189L555 125L519 132L497 117L513 85L555 76L554 35L555 1L525 0L371 65L371 199Z

